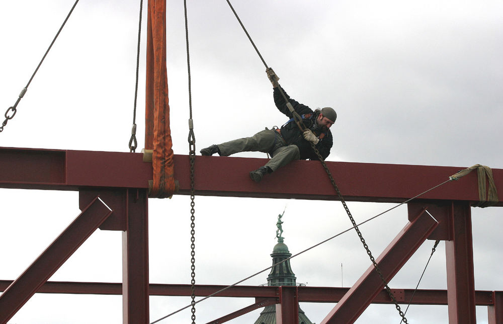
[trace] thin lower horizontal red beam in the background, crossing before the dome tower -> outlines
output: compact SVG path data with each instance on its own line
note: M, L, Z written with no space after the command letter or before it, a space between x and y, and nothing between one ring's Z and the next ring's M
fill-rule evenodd
M4 291L11 280L0 280L0 291ZM208 296L226 286L196 285L197 296ZM246 298L277 298L279 287L274 286L233 286L218 293L215 297L246 297ZM344 287L298 287L299 302L339 302L350 288ZM399 303L408 303L412 298L414 305L447 305L447 290L439 289L391 289ZM150 284L148 289L151 296L190 296L191 285L182 284ZM38 293L68 293L68 294L96 294L120 295L121 283L107 282L64 282L47 281ZM496 294L503 292L496 291ZM381 291L372 301L376 304L390 304L391 299L385 290ZM476 290L475 304L478 306L494 305L493 291Z

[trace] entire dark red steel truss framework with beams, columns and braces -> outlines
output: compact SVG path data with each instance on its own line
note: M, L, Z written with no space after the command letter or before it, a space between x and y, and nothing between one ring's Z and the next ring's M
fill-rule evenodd
M178 194L189 194L189 163L175 155ZM337 200L323 168L316 161L294 161L264 179L248 179L248 171L263 159L196 158L197 195ZM311 165L313 165L311 167ZM433 188L460 168L328 162L328 168L348 201L401 203ZM289 174L309 173L305 186L288 186ZM131 173L130 170L137 172ZM211 173L204 172L212 170ZM229 170L233 170L229 173ZM493 170L496 187L503 170ZM447 290L418 290L414 304L448 305L450 324L474 323L475 305L488 306L489 324L503 324L503 292L475 291L470 205L478 201L476 173L426 193L408 203L408 223L376 259L389 281L426 239L446 242ZM141 153L42 150L0 147L0 187L73 190L79 192L81 213L14 281L0 281L0 323L6 323L35 293L122 294L123 322L149 322L149 295L190 296L190 285L149 284L148 181L152 166ZM225 179L225 180L224 180ZM386 184L382 186L381 184ZM316 190L311 189L316 188ZM322 193L322 194L320 194ZM499 199L501 200L501 199ZM503 206L498 203L496 206ZM433 219L425 211L435 215ZM97 228L123 232L122 283L47 282L47 279ZM133 248L134 247L134 248ZM197 286L207 296L221 286ZM213 322L276 304L278 323L297 323L298 302L337 302L322 323L352 323L370 303L390 303L383 284L370 267L351 288L235 286L216 296L255 297L256 302ZM392 289L398 302L410 299L410 289Z

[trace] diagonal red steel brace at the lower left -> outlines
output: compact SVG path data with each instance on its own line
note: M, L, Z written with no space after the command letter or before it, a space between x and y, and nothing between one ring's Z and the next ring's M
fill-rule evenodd
M96 197L0 296L0 323L6 323L112 213Z

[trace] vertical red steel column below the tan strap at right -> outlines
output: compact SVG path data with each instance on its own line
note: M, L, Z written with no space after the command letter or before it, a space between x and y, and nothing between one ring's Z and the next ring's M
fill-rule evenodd
M469 202L453 202L452 240L445 242L449 324L471 324L475 316L475 279Z

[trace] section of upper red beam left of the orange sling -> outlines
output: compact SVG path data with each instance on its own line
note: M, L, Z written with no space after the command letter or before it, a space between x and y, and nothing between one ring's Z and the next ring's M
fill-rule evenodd
M141 153L0 147L0 187L148 188L152 165L142 159Z

